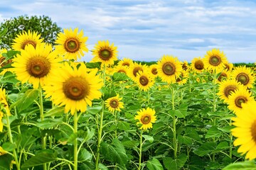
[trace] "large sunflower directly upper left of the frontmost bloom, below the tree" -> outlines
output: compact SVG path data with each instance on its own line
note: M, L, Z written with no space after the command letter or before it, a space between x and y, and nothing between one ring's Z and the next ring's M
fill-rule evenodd
M18 80L21 83L31 83L34 89L44 86L55 69L62 61L52 52L51 45L27 45L21 50L21 55L14 58L12 66Z

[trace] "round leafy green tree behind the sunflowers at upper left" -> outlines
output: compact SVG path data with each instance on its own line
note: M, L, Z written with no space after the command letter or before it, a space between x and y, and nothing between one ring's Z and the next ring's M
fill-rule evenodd
M26 32L28 30L38 32L44 42L52 45L54 45L58 33L62 30L48 16L18 16L17 18L10 18L0 24L0 32L4 29L8 31L1 37L0 47L7 49L11 48L14 38L22 33L23 30Z

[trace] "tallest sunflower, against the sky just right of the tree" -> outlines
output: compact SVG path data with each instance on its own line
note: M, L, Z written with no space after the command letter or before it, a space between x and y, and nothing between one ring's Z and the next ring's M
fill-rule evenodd
M78 28L74 30L63 29L64 33L58 33L58 38L55 40L55 52L62 55L67 60L77 60L81 56L84 56L84 52L88 52L88 48L85 45L87 37L83 36L83 31Z

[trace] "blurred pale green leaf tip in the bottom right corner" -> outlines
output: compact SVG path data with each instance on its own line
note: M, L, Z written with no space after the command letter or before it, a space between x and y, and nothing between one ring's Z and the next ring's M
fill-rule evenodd
M253 161L235 162L225 166L223 170L255 170L256 164Z

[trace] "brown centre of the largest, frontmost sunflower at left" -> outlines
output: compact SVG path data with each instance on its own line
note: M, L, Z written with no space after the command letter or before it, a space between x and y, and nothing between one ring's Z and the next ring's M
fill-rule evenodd
M80 101L89 94L90 86L82 77L70 77L63 83L63 92L67 98Z

